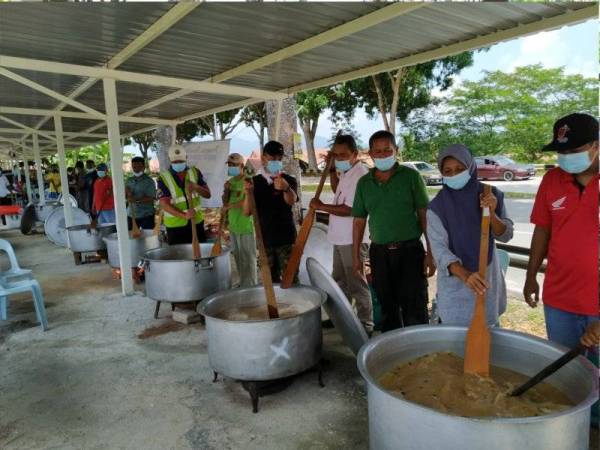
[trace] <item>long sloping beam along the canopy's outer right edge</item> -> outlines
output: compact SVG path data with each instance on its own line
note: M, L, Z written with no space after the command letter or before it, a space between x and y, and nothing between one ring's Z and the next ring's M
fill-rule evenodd
M363 69L354 70L352 72L347 72L344 74L334 75L332 77L323 78L321 80L313 81L310 83L299 84L289 89L284 90L289 95L293 95L300 91L306 91L310 89L316 89L323 86L330 86L336 83L341 83L343 81L354 80L356 78L362 78L370 75L374 75L381 72L387 72L390 70L395 70L400 67L412 66L415 64L421 64L427 61L432 61L435 59L444 58L446 56L455 55L468 50L475 50L481 47L487 47L493 44L497 44L503 41L509 41L512 39L516 39L519 37L539 33L541 31L547 31L554 28L559 28L565 25L574 25L579 22L583 22L586 20L594 19L597 17L598 7L590 6L587 8L578 9L575 11L567 11L564 14L560 14L558 16L538 20L529 24L518 24L517 26L510 28L508 30L496 31L494 33L478 36L473 39L469 39L467 41L458 42L456 44L451 45L442 45L436 49L418 53L416 55L407 56L404 58L395 59L393 61L388 61L381 64L376 64L374 66L365 67ZM229 103L227 105L220 106L218 108L213 108L209 110L205 110L196 114L190 114L187 116L178 117L175 119L177 122L183 122L187 120L197 119L200 117L205 117L208 115L212 115L215 113L229 111L231 109L240 108L248 105L253 105L255 103L260 103L264 101L260 98L251 98L247 100L242 100L239 102Z

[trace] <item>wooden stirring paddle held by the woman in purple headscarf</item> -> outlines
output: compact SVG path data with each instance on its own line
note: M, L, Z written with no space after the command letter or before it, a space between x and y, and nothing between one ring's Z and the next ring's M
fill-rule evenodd
M492 187L483 185L484 195L492 192ZM479 275L485 280L490 242L490 209L484 208L481 215L481 238L479 241ZM465 342L465 373L489 376L491 336L485 320L485 293L475 297L475 310Z

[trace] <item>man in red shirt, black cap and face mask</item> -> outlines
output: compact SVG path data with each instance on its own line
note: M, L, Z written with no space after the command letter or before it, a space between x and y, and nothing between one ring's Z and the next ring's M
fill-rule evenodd
M544 151L558 152L558 165L535 198L535 224L523 294L539 301L536 274L544 258L544 316L551 341L575 347L599 319L598 305L598 121L570 114L554 124Z

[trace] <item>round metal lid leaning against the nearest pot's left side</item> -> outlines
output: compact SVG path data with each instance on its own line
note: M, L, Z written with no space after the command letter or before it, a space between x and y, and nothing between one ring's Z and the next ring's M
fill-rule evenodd
M308 258L306 270L313 286L327 293L327 300L323 304L327 315L333 322L335 329L341 334L342 339L354 354L369 340L365 329L354 314L352 306L338 284L316 259Z

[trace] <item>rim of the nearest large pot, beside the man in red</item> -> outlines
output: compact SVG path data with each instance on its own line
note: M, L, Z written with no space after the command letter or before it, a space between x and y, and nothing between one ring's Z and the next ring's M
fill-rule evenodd
M434 331L434 329L436 329L436 328L460 330L460 331L464 331L465 333L467 332L467 329L468 329L467 327L459 327L459 326L454 326L454 325L443 325L443 324L442 325L416 325L416 326L401 328L398 330L393 330L393 331L388 331L386 333L382 333L379 336L377 336L373 339L370 339L366 344L364 344L361 347L360 351L358 352L356 359L357 359L358 370L359 370L361 376L364 378L364 380L367 382L367 384L369 386L377 389L380 393L383 393L386 397L389 397L396 401L408 404L413 408L417 408L419 411L421 411L423 413L432 414L432 415L438 416L438 417L444 417L446 419L451 418L456 421L470 422L470 423L494 422L494 423L511 425L511 424L544 422L544 421L547 421L550 419L579 413L582 410L588 409L590 406L592 406L598 400L598 377L592 377L592 389L591 389L590 393L588 394L588 396L584 400L579 402L577 405L575 405L571 408L565 409L563 411L557 411L557 412L554 412L551 414L544 414L543 416L533 416L533 417L463 417L463 416L456 416L454 414L446 414L441 411L437 411L433 408L428 408L426 406L419 405L418 403L414 403L414 402L405 400L401 397L398 397L396 395L393 395L392 393L390 393L389 391L387 391L386 389L381 387L381 385L377 382L377 380L369 373L369 371L367 369L367 364L366 364L367 363L367 361L366 361L367 354L379 342L385 341L388 339L393 339L397 335L401 335L404 333L410 333L413 331L418 331L418 330L423 330L423 329L431 329L432 331ZM554 347L555 349L560 350L563 353L569 350L568 348L563 347L562 345L556 344L556 343L548 341L546 339L539 338L537 336L533 336L531 334L522 333L520 331L505 330L505 329L501 329L501 328L498 328L498 329L492 328L492 329L490 329L490 332L492 334L505 334L505 335L507 334L507 335L521 336L523 338L527 338L529 340L537 341L539 343L548 345L550 347ZM580 363L584 364L584 366L587 366L587 368L590 370L590 372L597 370L590 361L588 361L586 358L584 358L582 356L577 357L576 360L579 361Z

